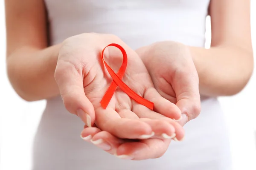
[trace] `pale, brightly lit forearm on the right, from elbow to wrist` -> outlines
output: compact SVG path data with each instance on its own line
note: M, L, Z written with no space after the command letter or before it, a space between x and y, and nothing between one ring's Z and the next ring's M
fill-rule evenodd
M253 72L253 52L240 48L190 47L199 76L199 89L206 96L229 96L241 91Z

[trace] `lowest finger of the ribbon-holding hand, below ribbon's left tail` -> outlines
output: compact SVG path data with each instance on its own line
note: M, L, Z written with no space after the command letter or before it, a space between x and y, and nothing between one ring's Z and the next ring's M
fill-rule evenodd
M120 118L112 108L96 110L96 125L123 139L146 139L152 136L151 126L140 119ZM154 135L154 134L153 134Z

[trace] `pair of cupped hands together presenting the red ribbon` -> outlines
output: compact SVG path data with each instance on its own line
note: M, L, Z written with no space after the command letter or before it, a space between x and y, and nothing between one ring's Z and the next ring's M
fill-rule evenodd
M154 102L154 111L119 88L106 109L100 105L112 81L100 53L111 43L121 45L128 55L123 82ZM121 52L108 47L104 55L108 65L117 71L122 63ZM109 34L70 37L59 51L55 79L67 110L86 125L81 137L122 159L162 156L171 139L183 139L182 126L200 112L195 65L188 48L176 42L157 42L133 51Z

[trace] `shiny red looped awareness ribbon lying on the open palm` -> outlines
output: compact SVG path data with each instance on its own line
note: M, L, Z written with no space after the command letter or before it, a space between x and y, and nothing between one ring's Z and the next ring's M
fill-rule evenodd
M123 55L123 62L121 67L119 68L119 70L117 71L117 74L111 69L111 67L107 64L107 62L105 62L104 60L104 51L107 47L109 46L114 46L117 47ZM122 78L125 74L125 70L127 67L127 54L125 52L125 49L122 48L122 46L112 43L109 44L108 46L106 46L103 50L102 50L102 54L101 54L102 60L105 64L105 67L108 70L108 73L111 75L113 81L111 82L110 86L108 87L108 90L106 91L106 93L104 94L102 100L100 101L102 107L104 109L107 108L108 103L110 102L112 96L114 95L117 86L119 86L122 91L124 91L126 94L128 94L128 96L130 96L132 99L134 99L136 102L140 103L141 105L146 106L147 108L150 108L151 110L153 110L154 108L154 103L150 102L146 99L144 99L142 96L139 96L138 94L136 94L133 90L131 90L131 88L129 88L124 82L122 82Z

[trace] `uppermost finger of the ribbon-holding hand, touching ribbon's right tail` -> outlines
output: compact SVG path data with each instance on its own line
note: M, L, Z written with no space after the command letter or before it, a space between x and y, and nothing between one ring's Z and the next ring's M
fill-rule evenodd
M175 120L181 119L180 109L174 103L163 98L155 88L148 88L144 97L154 103L154 111Z

